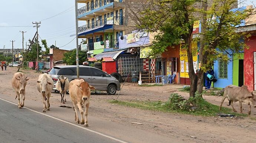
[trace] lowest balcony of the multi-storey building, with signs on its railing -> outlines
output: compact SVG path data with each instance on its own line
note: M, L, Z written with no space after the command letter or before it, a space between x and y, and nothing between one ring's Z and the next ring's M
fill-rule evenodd
M99 50L99 49L108 49L108 48L118 49L119 48L118 39L110 39L110 40L87 44L88 50Z

